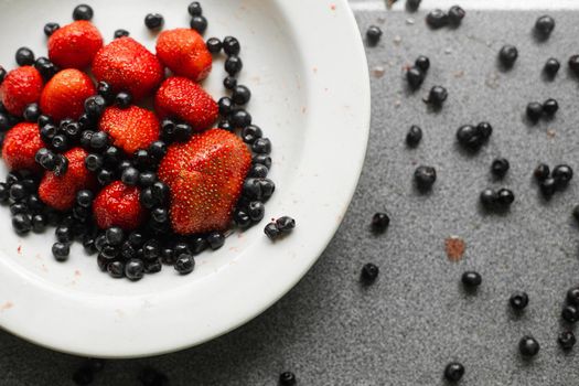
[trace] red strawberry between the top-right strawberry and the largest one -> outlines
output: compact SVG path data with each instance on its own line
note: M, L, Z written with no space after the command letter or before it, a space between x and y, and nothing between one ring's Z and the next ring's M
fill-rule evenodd
M154 109L160 118L179 118L196 131L211 127L218 114L217 104L203 87L178 76L167 78L159 87Z

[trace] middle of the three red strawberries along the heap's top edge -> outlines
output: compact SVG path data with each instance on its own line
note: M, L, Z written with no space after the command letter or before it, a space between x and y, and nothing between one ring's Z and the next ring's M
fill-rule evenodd
M115 39L98 51L93 74L115 92L129 92L135 100L152 94L163 79L161 63L131 37Z

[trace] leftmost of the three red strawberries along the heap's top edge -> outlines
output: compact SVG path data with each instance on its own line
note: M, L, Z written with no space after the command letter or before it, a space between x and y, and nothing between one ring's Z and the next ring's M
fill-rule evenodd
M61 68L84 68L103 46L100 32L79 20L57 29L49 39L49 57Z

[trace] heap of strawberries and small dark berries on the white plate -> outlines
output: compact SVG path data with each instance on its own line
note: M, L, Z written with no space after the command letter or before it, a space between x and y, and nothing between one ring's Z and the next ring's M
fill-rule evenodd
M236 82L242 44L205 41L201 4L187 12L191 28L160 32L153 54L124 29L106 44L94 10L79 4L72 23L44 25L47 57L21 47L19 67L1 68L2 158L11 172L0 202L18 234L55 226L56 260L67 260L77 240L112 278L139 280L162 265L186 275L195 255L224 245L232 224L243 230L265 217L276 187L272 144L247 110L250 89ZM158 13L144 17L150 30L163 23ZM214 55L225 56L228 95L218 103L197 83ZM154 110L138 105L146 97ZM219 119L227 130L215 128ZM294 226L282 216L266 234L277 239ZM77 383L92 380L87 368Z

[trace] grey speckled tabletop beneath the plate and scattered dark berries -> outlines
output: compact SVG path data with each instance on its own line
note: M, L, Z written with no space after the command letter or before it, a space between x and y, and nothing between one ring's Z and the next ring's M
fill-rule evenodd
M245 326L202 346L160 357L108 362L95 385L137 385L146 364L165 372L172 385L276 385L293 371L299 385L443 385L442 369L461 361L461 385L577 385L579 358L556 344L565 290L579 282L578 228L570 211L578 187L549 203L537 194L530 174L539 161L576 162L579 149L579 83L561 68L555 82L540 69L549 56L566 61L579 52L577 14L551 12L557 28L537 43L530 26L542 12L470 12L455 30L429 31L422 14L358 13L361 30L380 23L385 35L368 49L373 120L368 153L349 214L333 242L307 277L281 301ZM408 24L407 18L415 19ZM519 49L515 68L497 71L504 43ZM405 90L401 68L418 54L431 69L416 94ZM444 85L449 100L439 114L420 100L430 86ZM529 100L555 97L551 121L524 122ZM455 129L489 120L494 135L474 156L459 151ZM410 125L422 127L420 147L404 144ZM494 157L512 164L503 183L492 181ZM437 168L429 195L417 194L417 164ZM486 186L510 186L516 202L506 215L478 206ZM389 230L368 232L372 214L387 210ZM461 262L450 262L444 238L467 242ZM358 283L366 261L380 267L377 282ZM475 296L459 285L476 269L483 285ZM514 290L530 304L516 318L507 308ZM539 355L524 362L517 342L530 333ZM143 336L148 339L148 336ZM1 385L67 385L81 358L36 347L0 333Z

